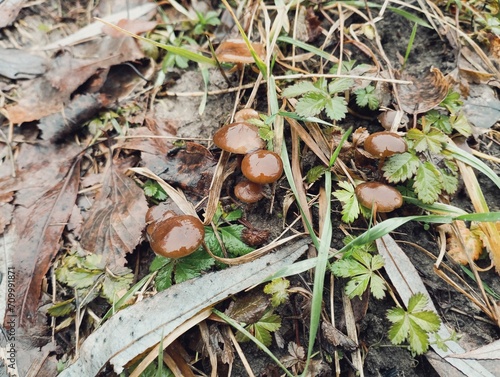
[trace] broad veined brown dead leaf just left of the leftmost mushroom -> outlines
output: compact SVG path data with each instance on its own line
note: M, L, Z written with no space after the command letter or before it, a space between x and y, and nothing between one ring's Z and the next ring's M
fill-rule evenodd
M112 161L91 213L83 224L82 247L103 255L110 268L126 263L141 239L148 206L142 189L124 172L131 161Z

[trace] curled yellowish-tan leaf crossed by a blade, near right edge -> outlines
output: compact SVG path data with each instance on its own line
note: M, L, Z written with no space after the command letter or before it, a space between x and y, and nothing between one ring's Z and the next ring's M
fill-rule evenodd
M464 241L465 250L450 224L442 224L438 227L438 229L446 235L446 250L448 251L448 255L455 262L467 265L468 259L465 253L467 252L472 260L476 260L481 255L483 245L477 233L477 227L473 226L471 229L468 229L465 222L458 220L455 224L460 232L462 240Z

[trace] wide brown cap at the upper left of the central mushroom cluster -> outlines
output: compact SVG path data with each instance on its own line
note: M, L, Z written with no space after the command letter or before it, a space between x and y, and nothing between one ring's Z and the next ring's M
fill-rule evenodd
M245 154L264 148L257 126L246 122L226 124L214 134L214 144L227 152Z

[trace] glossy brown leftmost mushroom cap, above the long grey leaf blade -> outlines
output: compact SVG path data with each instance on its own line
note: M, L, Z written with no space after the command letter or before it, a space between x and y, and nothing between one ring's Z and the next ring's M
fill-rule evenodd
M185 257L198 249L205 237L201 221L191 215L160 221L150 235L151 249L166 258Z

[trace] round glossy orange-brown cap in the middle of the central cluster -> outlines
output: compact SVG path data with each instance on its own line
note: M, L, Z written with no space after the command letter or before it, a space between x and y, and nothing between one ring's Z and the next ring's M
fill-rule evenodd
M276 153L262 149L243 157L241 172L252 182L273 183L283 174L283 162Z

